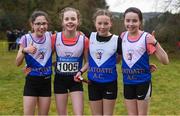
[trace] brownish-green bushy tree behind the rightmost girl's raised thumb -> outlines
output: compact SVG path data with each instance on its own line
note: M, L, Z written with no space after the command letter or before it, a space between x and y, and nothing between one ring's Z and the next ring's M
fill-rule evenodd
M165 12L158 17L154 17L146 22L145 30L151 29L156 31L158 41L175 48L177 38L180 37L180 14L171 14ZM149 32L151 32L149 31Z

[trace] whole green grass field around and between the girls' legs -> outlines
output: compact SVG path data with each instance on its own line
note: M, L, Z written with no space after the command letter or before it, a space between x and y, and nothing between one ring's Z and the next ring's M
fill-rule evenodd
M4 46L3 46L4 47ZM0 45L0 115L22 115L22 91L24 75L22 67L15 66L16 51L7 52ZM169 55L170 64L162 65L154 57L151 62L158 66L153 73L153 92L150 102L150 115L180 115L180 52ZM122 97L122 76L118 65L118 99L114 110L115 115L126 115ZM86 74L84 74L84 77ZM53 77L53 76L52 76ZM54 78L52 78L53 80ZM84 85L84 114L90 115L87 85ZM71 102L68 103L68 113L72 114ZM56 115L54 95L50 115Z

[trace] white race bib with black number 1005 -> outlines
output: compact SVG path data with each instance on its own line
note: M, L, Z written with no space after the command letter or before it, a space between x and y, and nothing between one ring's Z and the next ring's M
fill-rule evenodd
M79 62L57 62L57 70L60 72L78 72Z

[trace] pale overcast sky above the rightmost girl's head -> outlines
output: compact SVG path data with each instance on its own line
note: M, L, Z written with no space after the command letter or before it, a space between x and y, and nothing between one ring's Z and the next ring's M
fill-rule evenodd
M165 4L166 0L106 0L107 4L110 6L109 10L114 12L124 12L129 7L137 7L142 12L164 12L167 9L173 10L175 1L171 4Z

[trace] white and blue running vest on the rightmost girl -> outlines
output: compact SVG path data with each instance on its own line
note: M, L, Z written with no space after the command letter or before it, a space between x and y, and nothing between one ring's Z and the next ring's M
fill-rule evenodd
M122 73L124 84L140 84L151 80L146 36L143 32L137 41L128 40L128 32L122 38Z

